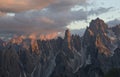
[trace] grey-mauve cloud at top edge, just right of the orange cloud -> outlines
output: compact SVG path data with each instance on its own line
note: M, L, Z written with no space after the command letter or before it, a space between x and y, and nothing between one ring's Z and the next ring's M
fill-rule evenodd
M57 0L48 8L50 11L54 11L54 12L68 11L75 5L85 4L86 1L87 0Z

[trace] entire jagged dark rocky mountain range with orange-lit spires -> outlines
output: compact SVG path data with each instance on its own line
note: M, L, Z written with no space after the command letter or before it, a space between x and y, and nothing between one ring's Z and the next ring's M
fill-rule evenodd
M0 77L104 77L120 68L120 27L92 20L84 36L0 40Z

